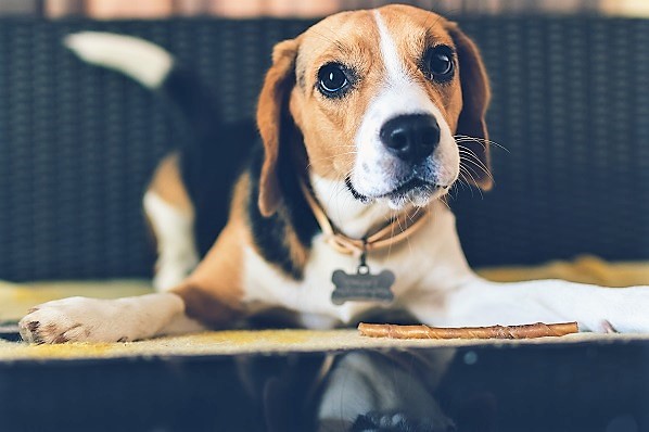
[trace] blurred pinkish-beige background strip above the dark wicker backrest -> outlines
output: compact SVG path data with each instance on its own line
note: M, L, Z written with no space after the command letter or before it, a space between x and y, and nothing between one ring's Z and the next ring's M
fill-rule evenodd
M383 0L2 0L0 13L48 17L82 15L99 20L162 18L216 15L321 16L341 10L376 8ZM645 0L406 0L402 3L434 9L442 13L575 13L649 15Z

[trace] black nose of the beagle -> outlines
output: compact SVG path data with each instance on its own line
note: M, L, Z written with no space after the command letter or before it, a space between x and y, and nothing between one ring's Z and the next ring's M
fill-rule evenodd
M387 120L379 136L392 154L415 163L433 153L440 143L440 126L432 115L399 115Z

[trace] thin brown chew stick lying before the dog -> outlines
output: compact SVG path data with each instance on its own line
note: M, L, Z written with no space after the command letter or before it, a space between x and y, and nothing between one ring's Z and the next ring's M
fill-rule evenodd
M429 327L358 325L360 335L370 338L392 339L531 339L543 336L562 336L580 331L576 322L560 322L546 325L536 322L524 326L492 326L492 327Z

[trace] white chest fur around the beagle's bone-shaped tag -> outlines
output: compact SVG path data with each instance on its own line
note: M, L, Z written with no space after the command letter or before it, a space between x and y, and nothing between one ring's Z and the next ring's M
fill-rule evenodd
M314 239L309 259L304 269L304 278L294 280L264 261L255 250L247 247L244 259L244 303L251 312L283 307L300 314L303 325L309 328L328 328L336 323L353 321L360 314L374 308L400 308L408 294L421 285L421 281L434 274L440 265L437 257L444 255L430 241L445 224L440 220L427 224L417 236L400 242L389 250L377 251L368 256L372 274L390 269L395 274L392 291L395 300L391 304L381 302L346 302L335 305L331 301L334 284L332 274L342 269L347 274L356 272L357 257L336 252L324 242L320 234ZM450 231L453 232L453 231ZM448 262L448 256L442 261ZM463 259L461 259L463 262ZM448 264L442 264L448 266ZM430 287L434 289L433 287Z

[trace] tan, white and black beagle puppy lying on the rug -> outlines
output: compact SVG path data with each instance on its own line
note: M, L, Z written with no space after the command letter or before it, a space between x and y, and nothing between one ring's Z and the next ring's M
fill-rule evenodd
M174 93L182 79L168 52L106 34L67 43L168 90L208 139L166 157L144 195L158 292L44 303L20 322L26 341L135 341L270 310L313 329L379 309L434 326L575 320L583 331L649 331L647 287L494 283L469 268L445 196L462 178L492 187L489 86L475 45L435 13L342 12L278 43L258 100L260 140L239 171L214 149L246 143L192 105L201 92ZM214 203L227 200L215 191L228 181L226 217Z

